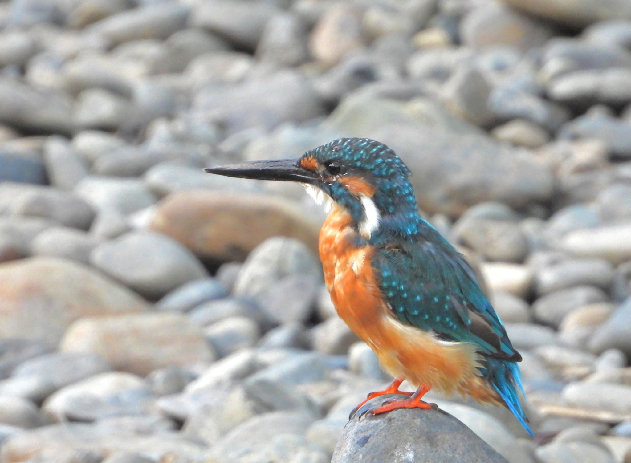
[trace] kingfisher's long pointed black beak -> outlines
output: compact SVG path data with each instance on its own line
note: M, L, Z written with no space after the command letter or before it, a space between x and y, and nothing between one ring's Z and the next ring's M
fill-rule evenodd
M299 159L279 159L274 161L249 161L225 166L208 167L204 172L218 173L226 177L241 179L281 180L314 184L320 179L312 170L300 166Z

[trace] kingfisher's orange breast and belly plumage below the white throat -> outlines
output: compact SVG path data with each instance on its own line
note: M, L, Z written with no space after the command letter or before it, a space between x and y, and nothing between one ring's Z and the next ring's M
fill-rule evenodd
M356 238L350 216L339 207L329 214L320 232L324 281L339 317L375 351L392 376L447 394L460 392L495 402L497 394L477 376L473 346L446 343L392 316L370 265L374 249L353 245Z

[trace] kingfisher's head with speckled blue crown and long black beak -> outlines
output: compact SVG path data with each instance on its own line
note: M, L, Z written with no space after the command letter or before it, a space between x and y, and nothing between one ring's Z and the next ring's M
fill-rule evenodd
M367 238L376 231L413 235L418 210L410 170L392 149L367 138L339 138L297 159L249 161L204 169L228 177L300 182L318 202L344 208Z

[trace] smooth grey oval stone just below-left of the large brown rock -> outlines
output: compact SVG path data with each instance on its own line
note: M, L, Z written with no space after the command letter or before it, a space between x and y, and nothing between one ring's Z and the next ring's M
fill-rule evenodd
M206 276L206 270L189 250L172 238L150 231L132 231L98 245L90 262L148 298L160 298Z

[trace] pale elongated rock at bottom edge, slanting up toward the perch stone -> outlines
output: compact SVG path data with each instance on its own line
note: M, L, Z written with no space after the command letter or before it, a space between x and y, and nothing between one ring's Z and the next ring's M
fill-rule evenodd
M313 414L305 411L276 411L256 416L221 438L221 441L213 446L211 458L217 459L219 462L242 459L260 451L261 447L267 447L270 441L281 435L299 436L304 434L314 419ZM308 459L306 461L319 462L321 460Z

